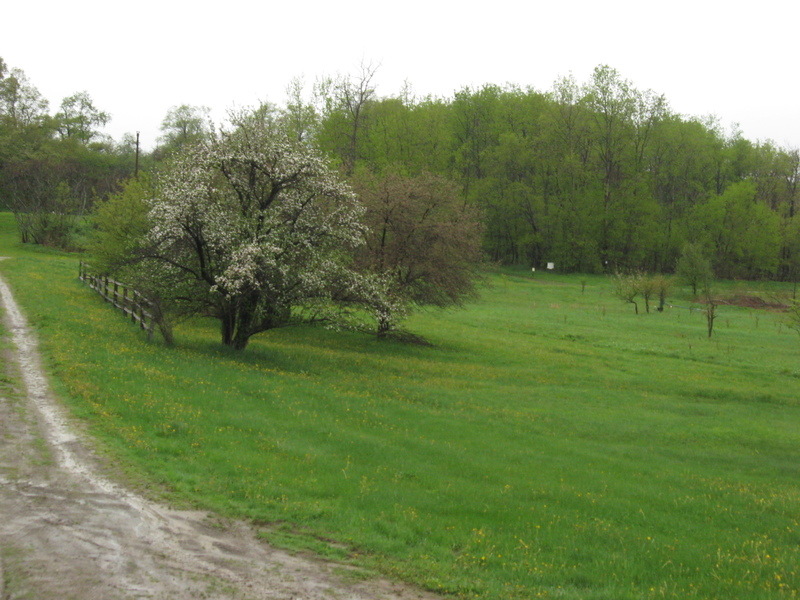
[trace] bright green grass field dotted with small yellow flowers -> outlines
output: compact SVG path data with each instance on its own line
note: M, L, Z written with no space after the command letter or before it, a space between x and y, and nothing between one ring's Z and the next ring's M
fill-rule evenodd
M698 311L636 316L605 278L504 270L410 320L433 347L296 328L234 354L202 320L148 342L8 215L0 255L57 391L153 494L459 598L800 596L779 313L721 307L708 340Z

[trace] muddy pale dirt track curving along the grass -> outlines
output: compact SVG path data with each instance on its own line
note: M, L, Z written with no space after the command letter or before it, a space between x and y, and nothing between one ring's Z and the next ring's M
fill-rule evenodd
M0 304L10 333L0 347L0 600L435 598L343 576L341 565L267 546L244 523L220 526L110 481L53 398L2 278Z

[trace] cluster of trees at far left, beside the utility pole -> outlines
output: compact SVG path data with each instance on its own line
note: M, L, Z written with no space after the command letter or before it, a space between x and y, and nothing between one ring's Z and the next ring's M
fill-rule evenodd
M70 246L95 198L134 169L132 139L100 134L110 119L86 92L55 114L18 68L0 58L0 210L13 210L23 241Z

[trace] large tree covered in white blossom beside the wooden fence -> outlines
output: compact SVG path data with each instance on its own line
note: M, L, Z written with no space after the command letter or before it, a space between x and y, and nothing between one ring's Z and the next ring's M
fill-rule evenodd
M224 344L329 317L356 294L361 204L268 111L179 153L158 187L137 279L173 311L219 319Z

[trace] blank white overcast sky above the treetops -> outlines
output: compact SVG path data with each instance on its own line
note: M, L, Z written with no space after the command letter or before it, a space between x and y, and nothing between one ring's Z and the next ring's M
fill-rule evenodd
M797 0L15 1L0 56L47 97L86 90L151 148L171 106L282 103L289 81L379 64L379 95L516 83L547 91L608 64L686 115L800 147Z

